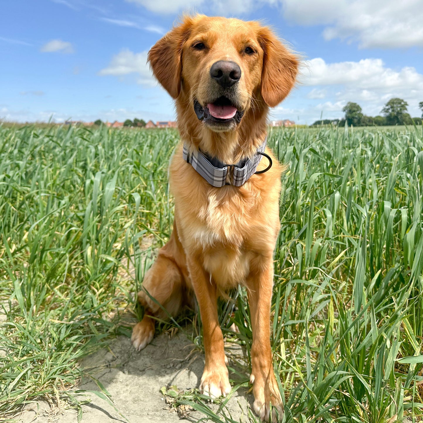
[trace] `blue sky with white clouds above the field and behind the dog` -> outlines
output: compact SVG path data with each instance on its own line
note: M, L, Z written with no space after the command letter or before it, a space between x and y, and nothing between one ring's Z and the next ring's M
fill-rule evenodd
M340 118L348 101L380 114L391 97L420 116L421 0L14 0L0 16L0 119L173 119L146 66L183 11L261 19L304 60L273 119Z

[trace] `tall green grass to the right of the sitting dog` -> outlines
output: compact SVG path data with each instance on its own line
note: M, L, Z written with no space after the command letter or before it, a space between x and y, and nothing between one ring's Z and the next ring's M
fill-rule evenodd
M421 129L279 132L272 141L291 163L273 309L286 420L421 415Z

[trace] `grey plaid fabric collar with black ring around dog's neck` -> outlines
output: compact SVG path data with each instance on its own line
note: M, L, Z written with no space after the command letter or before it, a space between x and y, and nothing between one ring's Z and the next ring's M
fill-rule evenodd
M257 153L254 157L240 160L235 165L228 165L221 162L216 157L211 157L200 149L195 149L192 153L189 153L187 144L184 143L182 150L182 157L187 163L190 163L192 167L199 173L206 181L213 185L213 187L223 187L225 185L233 185L235 187L241 187L245 182L250 179L254 173L267 172L272 167L272 159L264 153L266 148L267 136L264 139L263 144L257 149ZM261 161L261 157L265 156L269 160L269 166L256 172L257 166Z

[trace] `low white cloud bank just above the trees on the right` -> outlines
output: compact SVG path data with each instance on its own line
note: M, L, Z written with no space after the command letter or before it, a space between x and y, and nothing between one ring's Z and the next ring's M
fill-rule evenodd
M313 87L305 93L305 97L331 99L309 104L302 110L293 110L309 121L316 120L321 113L324 119L341 117L342 107L349 101L359 103L367 115L379 115L383 105L392 97L406 100L409 113L419 115L417 104L423 98L423 74L413 67L392 69L375 58L338 63L314 58L305 63L305 69L301 77L302 89Z

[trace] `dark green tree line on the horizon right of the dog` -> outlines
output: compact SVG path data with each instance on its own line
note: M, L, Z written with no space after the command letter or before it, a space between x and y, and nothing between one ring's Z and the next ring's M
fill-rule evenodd
M407 112L408 103L403 99L390 99L380 113L382 116L366 116L359 104L348 102L342 109L345 113L344 118L335 120L320 120L313 123L313 125L337 124L344 126L390 126L390 125L421 125L423 118L423 102L419 103L419 108L422 111L421 118L412 118Z

